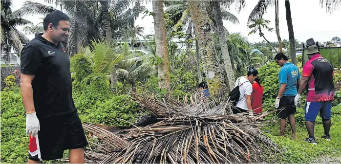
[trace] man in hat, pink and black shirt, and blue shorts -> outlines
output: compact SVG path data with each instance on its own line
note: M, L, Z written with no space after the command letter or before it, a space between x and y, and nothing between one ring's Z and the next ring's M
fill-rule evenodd
M305 141L316 145L314 127L319 112L324 128L322 138L330 140L330 112L335 93L333 83L334 68L327 59L320 55L316 45L308 47L307 55L309 60L303 68L295 104L299 104L300 94L308 87L304 117L309 137Z

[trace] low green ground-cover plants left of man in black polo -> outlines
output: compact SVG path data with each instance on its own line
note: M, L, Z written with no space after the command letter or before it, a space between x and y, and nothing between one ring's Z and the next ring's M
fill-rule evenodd
M26 163L28 137L20 92L1 91L1 163Z

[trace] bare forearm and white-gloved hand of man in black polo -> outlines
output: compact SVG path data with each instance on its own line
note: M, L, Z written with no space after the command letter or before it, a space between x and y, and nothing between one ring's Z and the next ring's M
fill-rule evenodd
M40 130L39 120L33 103L32 80L34 75L21 73L20 86L22 102L26 113L26 135L35 137Z

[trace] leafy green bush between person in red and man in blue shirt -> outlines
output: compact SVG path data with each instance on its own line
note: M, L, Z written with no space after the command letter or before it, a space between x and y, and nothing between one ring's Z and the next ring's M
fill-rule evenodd
M258 69L260 83L264 86L263 99L276 98L279 88L280 67L275 62L270 62Z

